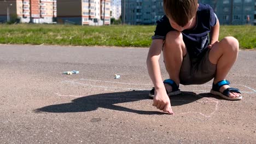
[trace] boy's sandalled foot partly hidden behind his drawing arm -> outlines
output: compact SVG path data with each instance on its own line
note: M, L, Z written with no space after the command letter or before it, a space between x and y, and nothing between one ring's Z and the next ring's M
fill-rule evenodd
M166 93L168 96L177 95L181 93L181 91L179 90L179 85L177 86L176 83L171 79L165 80L164 85L165 85ZM149 97L154 98L154 96L155 96L155 88L153 87L149 93Z

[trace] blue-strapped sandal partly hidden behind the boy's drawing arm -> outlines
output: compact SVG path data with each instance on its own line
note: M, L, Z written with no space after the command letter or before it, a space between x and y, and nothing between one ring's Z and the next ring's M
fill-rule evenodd
M166 93L168 96L177 95L181 93L181 91L179 90L179 85L177 85L173 80L167 79L167 80L164 80L164 83L172 87L172 92L167 92L166 90ZM149 97L154 98L154 96L155 96L155 88L153 87L149 93Z

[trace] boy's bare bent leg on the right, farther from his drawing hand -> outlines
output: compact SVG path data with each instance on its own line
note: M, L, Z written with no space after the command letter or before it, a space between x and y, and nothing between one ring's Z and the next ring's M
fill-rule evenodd
M211 63L217 64L216 75L213 80L214 84L224 80L228 75L229 70L236 61L238 50L239 43L234 37L225 37L212 47L209 53L209 60ZM228 85L224 85L219 91L223 92L228 87ZM240 94L230 93L229 97L240 97Z

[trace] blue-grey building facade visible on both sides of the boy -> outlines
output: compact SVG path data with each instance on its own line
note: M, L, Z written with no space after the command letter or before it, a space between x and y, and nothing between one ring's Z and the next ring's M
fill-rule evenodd
M255 25L255 0L199 0L210 4L221 25ZM121 0L122 22L152 25L164 15L162 0Z

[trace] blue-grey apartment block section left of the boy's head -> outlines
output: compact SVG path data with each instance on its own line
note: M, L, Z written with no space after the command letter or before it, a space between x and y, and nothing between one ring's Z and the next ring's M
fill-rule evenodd
M164 15L162 0L121 0L122 22L153 25Z

